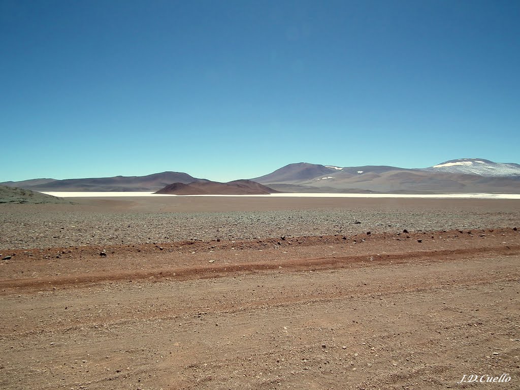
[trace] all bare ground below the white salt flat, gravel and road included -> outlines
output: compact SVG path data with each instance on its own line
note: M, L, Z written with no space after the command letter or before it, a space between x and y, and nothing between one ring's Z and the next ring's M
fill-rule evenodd
M517 199L0 204L0 388L520 388L518 229Z

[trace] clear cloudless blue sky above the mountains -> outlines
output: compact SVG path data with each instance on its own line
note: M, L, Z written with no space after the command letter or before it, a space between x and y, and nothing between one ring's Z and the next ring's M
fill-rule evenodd
M520 163L516 1L0 0L0 181Z

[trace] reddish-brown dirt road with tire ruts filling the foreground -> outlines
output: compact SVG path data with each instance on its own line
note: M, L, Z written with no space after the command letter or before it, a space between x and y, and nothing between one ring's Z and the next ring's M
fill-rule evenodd
M11 252L1 388L520 387L512 229Z

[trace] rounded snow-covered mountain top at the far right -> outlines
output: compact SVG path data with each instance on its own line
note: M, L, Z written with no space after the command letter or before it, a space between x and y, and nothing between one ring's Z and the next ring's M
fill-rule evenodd
M485 159L457 159L425 168L426 171L479 176L520 176L520 165L496 163Z

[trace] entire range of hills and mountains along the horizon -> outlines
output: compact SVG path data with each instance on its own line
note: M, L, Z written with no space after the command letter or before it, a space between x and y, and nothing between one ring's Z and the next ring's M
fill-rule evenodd
M256 183L253 185L251 181ZM182 172L63 180L38 178L0 183L4 186L46 192L164 190L179 194L180 192L226 193L225 191L230 190L229 186L234 186L234 190L237 190L238 184L248 188L238 189L240 193L255 193L255 191L269 193L273 192L272 190L275 192L520 193L520 165L496 163L478 158L449 160L426 168L400 168L388 165L341 167L295 163L283 166L267 175L252 178L250 181L235 180L229 183L212 182ZM258 187L256 184L267 186L268 189ZM175 186L166 189L171 185Z

